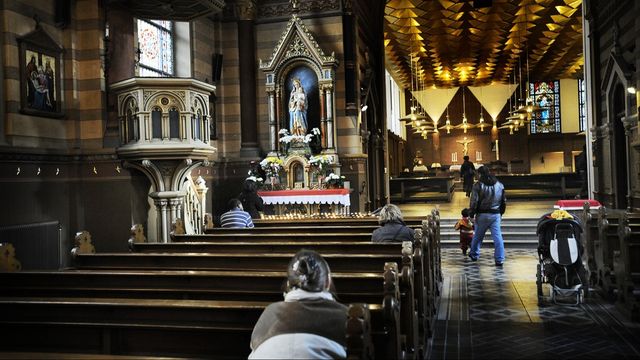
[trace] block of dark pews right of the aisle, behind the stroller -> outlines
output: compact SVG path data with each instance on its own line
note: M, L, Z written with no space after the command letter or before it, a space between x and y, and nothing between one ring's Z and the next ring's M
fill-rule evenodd
M585 203L582 219L591 285L640 321L640 212Z

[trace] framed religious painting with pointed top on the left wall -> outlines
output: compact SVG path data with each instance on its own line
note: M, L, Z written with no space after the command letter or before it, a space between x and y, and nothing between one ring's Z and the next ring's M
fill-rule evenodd
M60 61L63 49L47 32L36 29L17 38L20 56L20 111L62 117Z

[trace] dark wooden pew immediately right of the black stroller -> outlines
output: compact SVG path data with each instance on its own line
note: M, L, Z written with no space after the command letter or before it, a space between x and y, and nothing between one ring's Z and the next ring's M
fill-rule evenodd
M615 299L618 293L614 263L620 256L618 220L621 216L621 211L607 210L604 206L598 210L598 240L594 241L597 284L610 299Z

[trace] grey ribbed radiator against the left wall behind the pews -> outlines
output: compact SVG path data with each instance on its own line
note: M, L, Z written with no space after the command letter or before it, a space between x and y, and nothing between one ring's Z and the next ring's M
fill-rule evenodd
M0 242L13 244L22 270L58 270L63 267L62 228L59 221L0 227Z

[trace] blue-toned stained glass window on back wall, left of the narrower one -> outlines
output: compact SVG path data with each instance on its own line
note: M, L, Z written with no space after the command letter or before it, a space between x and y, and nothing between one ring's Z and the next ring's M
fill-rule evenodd
M529 93L540 111L531 114L531 133L559 133L560 81L538 81L529 84Z

